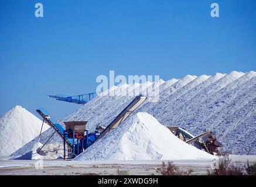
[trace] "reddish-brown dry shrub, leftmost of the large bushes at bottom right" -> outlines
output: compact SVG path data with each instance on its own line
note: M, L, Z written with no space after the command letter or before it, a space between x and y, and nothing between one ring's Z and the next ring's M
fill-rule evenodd
M162 165L156 169L156 172L160 172L162 175L191 175L193 170L180 171L178 166L169 161L168 165L162 162Z

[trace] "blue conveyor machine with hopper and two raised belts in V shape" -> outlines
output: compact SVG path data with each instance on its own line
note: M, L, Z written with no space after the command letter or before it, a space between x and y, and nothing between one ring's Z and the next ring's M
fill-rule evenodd
M145 96L136 96L134 100L129 103L129 105L122 110L122 112L115 117L110 124L108 124L107 127L97 126L95 131L92 133L88 133L88 130L86 129L87 122L64 122L66 125L66 129L64 129L59 123L56 122L56 120L53 119L53 117L49 115L49 113L46 112L45 109L40 108L37 109L36 112L42 116L43 123L46 122L49 124L49 126L55 130L54 133L57 132L57 134L62 137L65 159L66 148L68 150L67 158L76 157L78 154L86 150L86 148L91 146L91 144L93 144L95 141L105 136L105 134L109 133L112 129L118 127L118 125L124 122L124 120L127 119L127 117L131 115L131 113L134 112L134 110L138 108L145 100ZM50 136L47 141L49 141L52 136ZM37 149L38 154L43 154L42 148L45 146L45 144Z

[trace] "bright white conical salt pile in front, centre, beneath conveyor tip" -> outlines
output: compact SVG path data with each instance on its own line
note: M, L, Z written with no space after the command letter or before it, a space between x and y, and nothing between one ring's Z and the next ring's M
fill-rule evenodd
M138 112L94 143L75 160L187 160L211 159L186 144L145 112Z

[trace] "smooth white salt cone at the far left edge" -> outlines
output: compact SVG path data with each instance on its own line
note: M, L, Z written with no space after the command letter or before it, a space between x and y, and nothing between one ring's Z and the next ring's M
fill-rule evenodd
M0 118L0 155L10 155L39 135L42 121L21 106ZM49 126L44 124L43 130Z

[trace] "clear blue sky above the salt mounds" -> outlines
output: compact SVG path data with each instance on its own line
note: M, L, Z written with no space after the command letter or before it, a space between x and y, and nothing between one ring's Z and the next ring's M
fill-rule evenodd
M36 18L35 4L44 6ZM217 2L220 18L211 18ZM0 115L15 105L61 119L98 75L256 70L256 1L0 1Z

